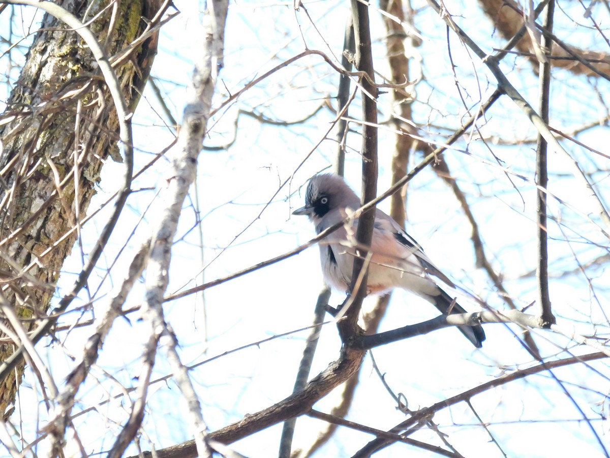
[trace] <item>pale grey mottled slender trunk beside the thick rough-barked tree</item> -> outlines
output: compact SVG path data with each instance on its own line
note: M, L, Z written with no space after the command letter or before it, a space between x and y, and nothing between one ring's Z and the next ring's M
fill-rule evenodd
M168 284L171 246L178 227L182 203L188 188L195 179L197 157L206 135L207 120L212 106L212 95L218 71L222 68L224 24L229 1L210 2L204 15L201 56L195 61L188 104L184 109L182 129L178 134L176 152L171 160L165 188L162 190L163 207L159 219L152 227L151 251L146 269L146 299L142 304L142 317L151 326L151 345L161 343L167 348L167 357L182 395L187 400L190 423L195 434L199 457L212 457L207 444L206 424L187 368L178 355L178 340L163 317L163 294ZM150 349L152 352L152 349ZM152 357L154 362L154 357Z

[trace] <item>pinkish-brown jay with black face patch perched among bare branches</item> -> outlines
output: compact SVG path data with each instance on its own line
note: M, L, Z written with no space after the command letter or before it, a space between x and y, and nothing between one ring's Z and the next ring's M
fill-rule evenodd
M342 177L320 174L314 176L307 185L305 206L292 214L309 216L315 224L316 233L320 234L360 206L360 199ZM325 282L342 291L348 291L350 287L354 257L364 254L356 246L357 225L357 218L348 220L343 227L319 243ZM403 288L422 296L444 314L450 310L451 313L466 313L430 276L436 276L451 287L454 286L453 283L432 264L422 247L396 221L379 209L375 213L370 251L372 256L367 282L369 293ZM481 342L485 340L482 326L459 326L459 330L473 345L481 348Z

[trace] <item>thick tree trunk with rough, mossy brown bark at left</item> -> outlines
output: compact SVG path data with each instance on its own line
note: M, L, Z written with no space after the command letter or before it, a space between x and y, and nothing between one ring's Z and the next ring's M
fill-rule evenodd
M66 0L61 5L79 18L87 12L84 22L95 17L89 27L111 57L145 30L142 17L152 19L160 1L117 2L116 10L104 10L109 3ZM157 35L152 35L115 67L131 112L156 45ZM45 15L0 116L0 271L8 280L2 293L28 330L49 309L76 240L76 231L70 231L87 211L104 161L120 158L117 129L109 91L91 52L74 30ZM12 343L2 343L0 362L12 352ZM0 413L5 416L22 374L23 363L0 382Z

